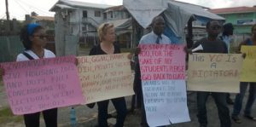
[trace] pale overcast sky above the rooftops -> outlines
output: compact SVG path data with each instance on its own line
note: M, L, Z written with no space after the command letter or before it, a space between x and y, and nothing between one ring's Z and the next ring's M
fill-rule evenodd
M76 0L86 3L104 3L109 5L121 5L123 0ZM256 5L256 0L177 0L186 3L194 3L211 9L229 8L238 6ZM25 14L35 11L39 15L53 16L49 9L57 0L9 0L10 18L24 20ZM6 19L5 0L0 0L0 19Z

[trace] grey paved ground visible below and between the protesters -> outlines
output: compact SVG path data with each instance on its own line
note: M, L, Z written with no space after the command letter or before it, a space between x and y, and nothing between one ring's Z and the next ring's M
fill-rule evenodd
M3 86L2 86L3 87ZM3 104L3 88L0 87L0 101L1 104ZM234 99L235 95L231 95L231 97ZM6 100L6 99L4 99ZM126 97L127 106L131 106L131 97ZM247 101L247 96L244 99L244 103ZM188 106L189 106L189 115L191 118L191 122L189 123L183 123L183 124L173 124L169 125L170 127L198 127L199 124L197 122L196 118L196 101L195 101L195 93L190 93L188 95ZM77 118L78 118L78 127L96 127L96 113L97 108L94 107L93 109L90 109L86 106L78 106L75 107ZM232 109L232 106L230 106L230 110ZM113 105L110 103L108 111L110 113L114 113ZM59 109L58 114L58 123L60 127L70 127L69 124L69 112L70 107L63 107ZM212 97L209 96L207 101L207 116L208 116L208 127L219 127L219 121L218 121L218 113L216 109L216 105L214 101L212 100ZM140 126L140 113L134 112L129 113L127 118L125 119L125 127L139 127ZM253 105L253 116L256 116L256 102ZM256 127L256 122L253 122L251 120L248 120L246 118L242 118L241 124L236 124L232 121L232 127ZM114 118L108 119L109 123L113 124L115 122ZM23 123L9 123L9 124L0 124L2 127L24 127ZM41 127L44 127L44 120L41 118Z

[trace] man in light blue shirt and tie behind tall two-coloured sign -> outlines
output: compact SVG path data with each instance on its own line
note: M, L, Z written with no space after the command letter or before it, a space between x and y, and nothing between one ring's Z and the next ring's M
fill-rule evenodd
M163 34L164 28L165 28L165 20L162 16L154 17L151 25L152 25L153 31L144 35L143 38L141 38L139 44L154 44L154 43L171 44L171 40ZM135 79L134 79L134 84L136 85L135 92L136 92L137 98L140 99L139 105L142 105L142 108L143 108L142 109L142 126L148 127L148 123L146 120L146 113L144 109L144 103L143 103L141 72L140 72L140 66L139 66L137 56L135 60L136 60Z

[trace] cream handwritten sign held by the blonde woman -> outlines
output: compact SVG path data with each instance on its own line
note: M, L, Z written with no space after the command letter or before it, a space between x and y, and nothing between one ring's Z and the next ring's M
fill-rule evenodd
M78 57L86 103L134 95L128 54Z

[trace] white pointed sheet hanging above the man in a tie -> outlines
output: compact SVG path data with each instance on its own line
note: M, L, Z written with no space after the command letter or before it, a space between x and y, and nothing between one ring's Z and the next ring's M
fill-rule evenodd
M151 20L168 7L167 0L124 0L123 3L143 28L147 28Z

